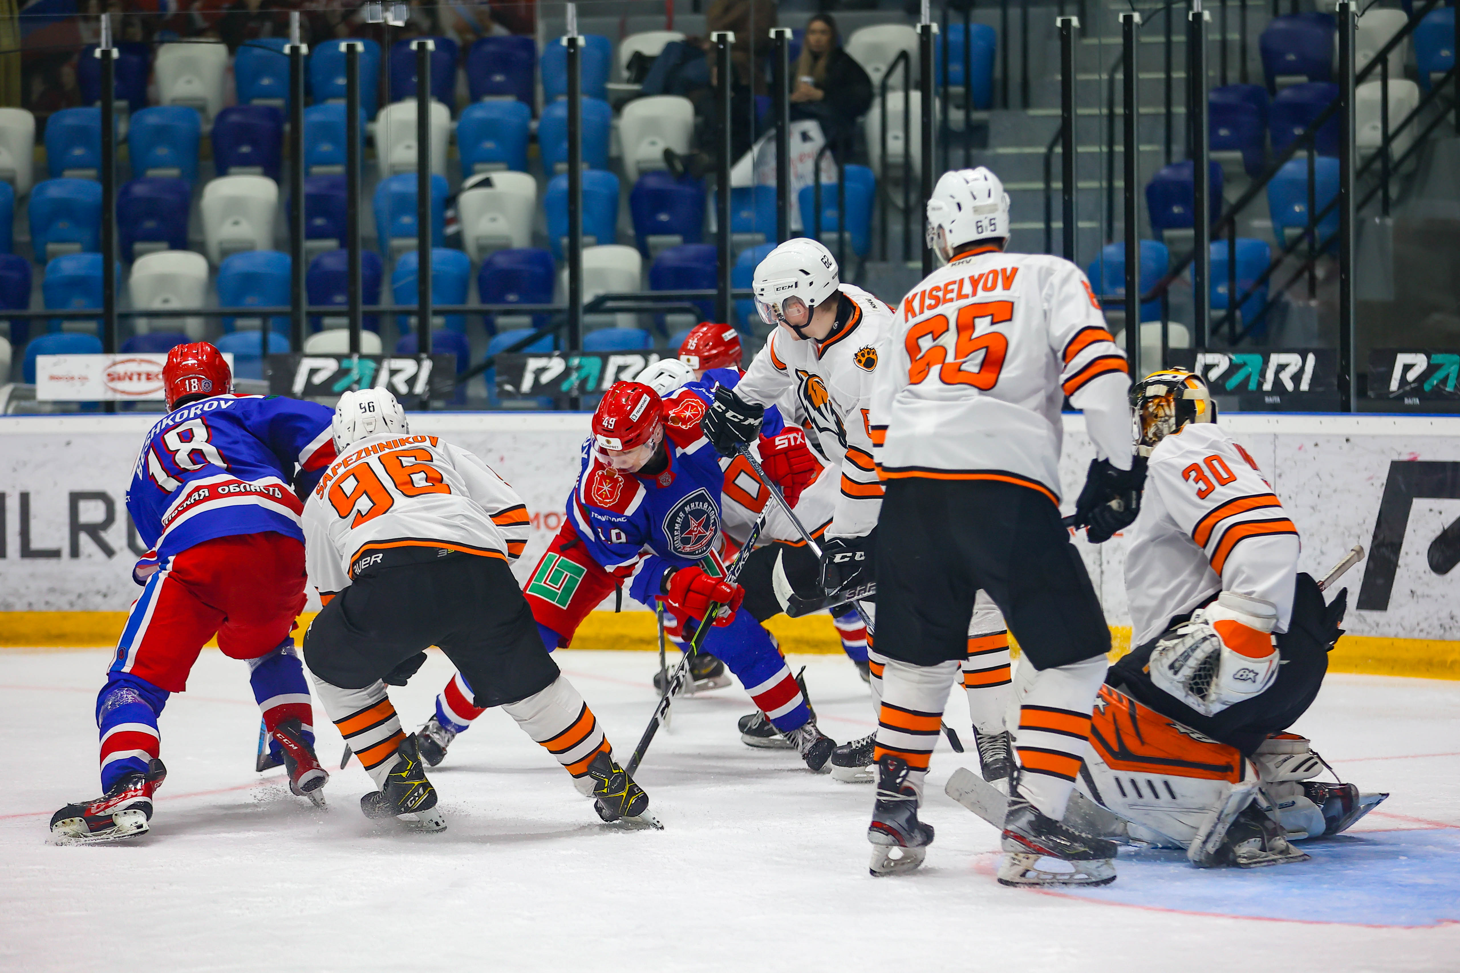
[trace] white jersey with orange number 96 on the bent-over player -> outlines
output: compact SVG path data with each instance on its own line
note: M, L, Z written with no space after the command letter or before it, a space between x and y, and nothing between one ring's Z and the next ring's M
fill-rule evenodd
M502 477L439 436L361 439L330 464L304 509L305 560L337 594L387 551L451 550L512 562L527 508Z

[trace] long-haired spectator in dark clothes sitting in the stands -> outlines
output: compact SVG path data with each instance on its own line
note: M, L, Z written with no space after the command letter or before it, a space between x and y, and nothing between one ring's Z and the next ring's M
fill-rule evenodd
M791 120L821 123L832 152L851 153L857 120L872 106L872 79L841 48L837 22L818 13L806 22L802 55L791 66Z

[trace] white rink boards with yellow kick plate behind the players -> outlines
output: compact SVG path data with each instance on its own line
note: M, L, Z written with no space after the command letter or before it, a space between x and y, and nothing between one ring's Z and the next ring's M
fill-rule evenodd
M107 645L136 597L142 544L126 490L156 416L0 419L0 645ZM1349 636L1333 668L1460 678L1460 417L1232 416L1222 423L1261 467L1302 534L1302 569L1321 576L1353 544L1369 556L1349 588ZM518 490L533 534L523 576L562 524L585 414L413 414L413 432L472 449ZM1092 446L1064 416L1061 492L1073 497ZM1070 502L1066 506L1072 506ZM1129 640L1124 541L1075 541L1101 594L1117 648ZM317 605L312 605L317 607ZM651 648L653 620L625 598L585 624L584 648ZM637 610L637 611L629 611ZM826 617L778 620L793 651L834 651Z

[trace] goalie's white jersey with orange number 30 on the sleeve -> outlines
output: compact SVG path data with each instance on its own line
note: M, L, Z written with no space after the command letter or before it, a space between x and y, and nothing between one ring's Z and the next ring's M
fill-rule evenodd
M1127 538L1132 645L1221 591L1278 605L1275 630L1288 630L1298 528L1253 458L1216 423L1187 423L1156 443Z

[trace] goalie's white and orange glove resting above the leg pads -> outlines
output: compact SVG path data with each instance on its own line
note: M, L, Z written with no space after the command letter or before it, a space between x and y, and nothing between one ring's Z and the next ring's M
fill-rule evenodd
M1150 681L1203 716L1251 699L1278 678L1278 607L1223 591L1156 643Z

